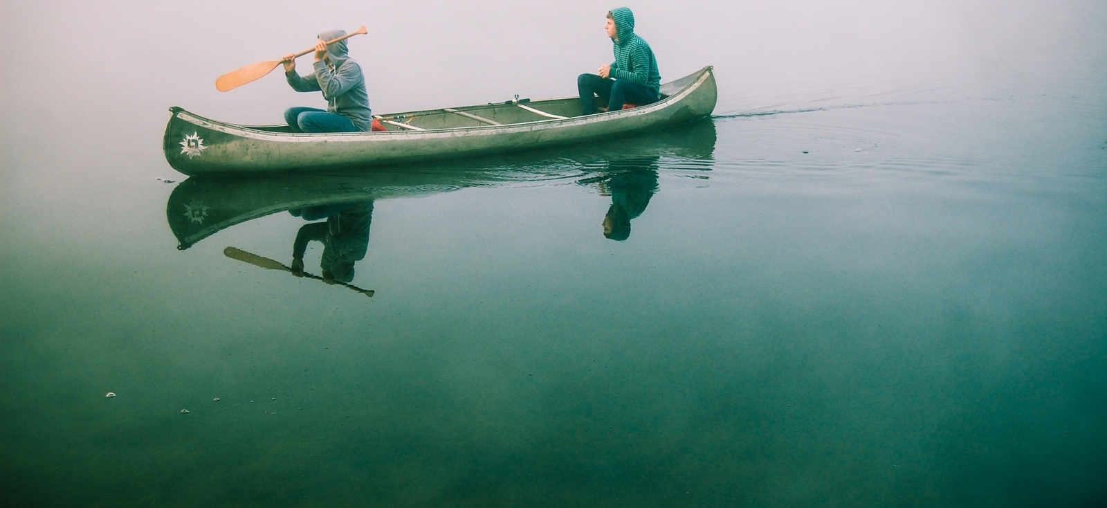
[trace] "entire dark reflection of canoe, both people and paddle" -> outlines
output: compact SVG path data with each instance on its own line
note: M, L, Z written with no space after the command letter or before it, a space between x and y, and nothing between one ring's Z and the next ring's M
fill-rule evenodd
M355 265L366 257L374 205L395 198L417 198L467 187L527 183L561 185L576 182L611 198L603 234L613 240L630 236L630 222L642 215L659 191L659 172L707 178L715 146L715 127L707 120L650 135L573 148L497 156L486 160L391 168L329 175L272 175L265 178L192 177L174 188L166 218L177 248L232 226L287 211L310 224L297 226L291 266L227 247L235 260L372 296L351 282ZM290 234L288 231L286 234ZM322 243L322 274L309 273L303 257L311 241ZM288 259L287 251L268 255Z

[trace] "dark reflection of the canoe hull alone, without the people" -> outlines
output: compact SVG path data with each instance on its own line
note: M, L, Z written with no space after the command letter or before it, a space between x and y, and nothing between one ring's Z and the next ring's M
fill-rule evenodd
M184 250L236 225L296 209L524 183L576 182L590 186L638 166L660 166L707 178L715 141L714 123L704 120L613 146L576 146L497 157L495 165L473 158L346 174L194 176L173 189L165 215L177 248Z

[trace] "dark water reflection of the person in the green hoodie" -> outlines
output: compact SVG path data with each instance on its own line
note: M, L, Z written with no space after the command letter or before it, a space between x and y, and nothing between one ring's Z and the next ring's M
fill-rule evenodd
M630 220L642 215L658 191L658 158L612 160L610 178L599 183L600 194L611 196L603 216L603 236L617 241L630 238Z

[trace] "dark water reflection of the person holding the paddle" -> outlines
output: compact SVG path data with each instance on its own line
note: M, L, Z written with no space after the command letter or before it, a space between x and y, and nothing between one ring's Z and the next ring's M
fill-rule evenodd
M349 283L353 280L353 263L365 258L369 249L369 226L373 219L373 201L344 205L327 205L289 210L304 220L327 218L323 222L304 225L296 234L292 243L292 273L303 277L303 253L308 242L315 240L323 245L323 256L319 262L323 281Z

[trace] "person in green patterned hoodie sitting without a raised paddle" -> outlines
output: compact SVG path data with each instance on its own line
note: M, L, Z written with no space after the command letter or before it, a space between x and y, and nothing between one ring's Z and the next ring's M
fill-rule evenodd
M622 110L624 104L642 106L661 99L661 73L650 44L634 33L634 13L625 7L608 12L604 29L615 61L600 68L599 75L577 77L580 106L586 115L596 113L596 96L608 103L608 111Z

